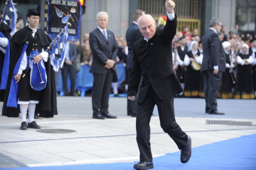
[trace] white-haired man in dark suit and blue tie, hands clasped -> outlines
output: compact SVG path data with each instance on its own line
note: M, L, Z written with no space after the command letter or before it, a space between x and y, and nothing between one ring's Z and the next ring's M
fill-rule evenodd
M93 118L117 118L108 112L108 99L111 89L118 45L115 35L107 30L108 14L104 11L97 14L98 27L89 35L89 43L93 61L90 73L93 73L91 93Z

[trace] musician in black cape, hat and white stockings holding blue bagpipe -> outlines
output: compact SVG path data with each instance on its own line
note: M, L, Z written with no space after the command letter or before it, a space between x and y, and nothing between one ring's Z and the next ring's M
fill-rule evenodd
M11 38L11 60L7 89L4 97L2 115L8 117L18 117L21 113L22 125L20 129L26 130L27 127L40 129L34 121L34 114L39 113L40 117L53 117L57 112L56 86L53 67L50 65L50 52L46 52L52 40L47 34L37 28L40 17L40 4L37 9L28 9L28 26L17 31ZM35 57L31 61L31 55ZM43 60L43 62L41 62ZM37 69L29 67L36 63L40 66ZM43 64L42 64L43 63ZM41 69L45 67L45 69ZM31 71L32 70L32 71ZM42 75L35 75L30 78L30 71L45 71ZM25 76L23 76L25 74ZM33 75L33 74L32 74ZM43 77L45 87L43 90L32 88L30 79ZM40 82L39 82L40 84ZM28 110L28 125L26 123L26 113Z

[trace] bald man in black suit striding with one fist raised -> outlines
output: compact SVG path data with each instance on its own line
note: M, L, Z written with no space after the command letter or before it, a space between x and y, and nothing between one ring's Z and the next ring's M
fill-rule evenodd
M177 28L174 6L172 0L166 0L165 27L156 30L156 21L151 15L142 15L138 22L143 37L133 45L133 67L128 88L128 99L135 100L143 76L137 98L136 139L140 151L140 162L134 165L137 170L154 168L150 149L150 118L155 105L163 131L181 150L180 161L187 163L191 157L191 138L182 131L174 116L174 96L182 92L172 65L171 41Z

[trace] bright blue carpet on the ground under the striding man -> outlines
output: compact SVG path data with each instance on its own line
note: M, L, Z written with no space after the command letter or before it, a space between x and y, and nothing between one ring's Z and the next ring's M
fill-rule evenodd
M255 144L256 134L253 134L192 148L192 157L187 164L180 163L180 152L167 153L153 159L154 170L256 170ZM133 165L134 162L6 170L134 170Z

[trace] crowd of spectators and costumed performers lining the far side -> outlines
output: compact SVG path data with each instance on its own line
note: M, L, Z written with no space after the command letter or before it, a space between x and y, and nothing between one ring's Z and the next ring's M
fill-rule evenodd
M228 48L224 48L226 54L228 54L228 58L226 63L227 75L223 76L218 97L222 99L256 98L255 37L250 34L239 33L238 31L229 31L226 34L226 27L222 26L219 38L222 42L225 42L223 43L223 47L226 47L228 42ZM184 26L182 31L176 32L173 40L173 65L176 75L184 89L184 93L180 93L176 97L204 98L202 74L200 72L200 65L202 64L203 58L201 39L202 36L198 34L197 28L189 32L189 27ZM117 62L125 66L128 54L126 39L116 36L116 41L119 46ZM89 34L85 33L81 43L78 41L75 44L78 50L76 61L77 71L79 71L80 66L91 66L92 54L89 47ZM243 53L242 48L247 49L247 51ZM248 68L244 69L245 67ZM246 79L246 85L242 85L245 79L241 77L248 77ZM119 93L126 93L126 84L128 82L121 84L121 89L118 90ZM111 93L113 91L117 90L113 89ZM116 92L115 96L118 97Z

